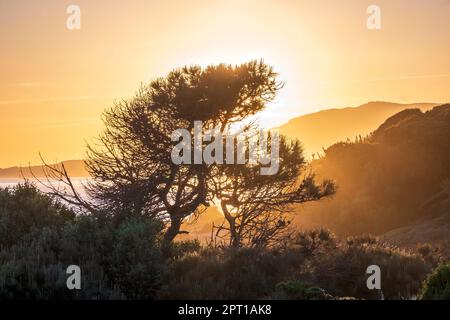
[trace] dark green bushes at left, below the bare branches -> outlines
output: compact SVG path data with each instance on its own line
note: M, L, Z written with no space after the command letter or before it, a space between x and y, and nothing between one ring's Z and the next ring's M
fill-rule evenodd
M0 298L154 297L164 270L160 224L140 218L115 226L75 216L31 185L0 192L0 219L8 227L1 238ZM22 221L22 213L31 221ZM72 264L82 270L82 290L66 287Z

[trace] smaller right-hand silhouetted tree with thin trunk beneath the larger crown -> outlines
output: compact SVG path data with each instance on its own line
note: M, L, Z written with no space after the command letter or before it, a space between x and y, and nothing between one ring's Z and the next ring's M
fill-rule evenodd
M300 143L282 137L276 174L261 175L260 164L220 168L212 181L225 219L213 228L213 244L266 247L288 238L292 205L334 192L333 182L316 184L305 166Z

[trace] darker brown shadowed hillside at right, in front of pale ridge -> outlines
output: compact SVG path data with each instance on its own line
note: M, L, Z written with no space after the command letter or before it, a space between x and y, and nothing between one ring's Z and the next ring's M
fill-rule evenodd
M312 165L338 191L299 208L298 225L387 233L399 244L450 239L450 104L397 113L362 141L334 144Z

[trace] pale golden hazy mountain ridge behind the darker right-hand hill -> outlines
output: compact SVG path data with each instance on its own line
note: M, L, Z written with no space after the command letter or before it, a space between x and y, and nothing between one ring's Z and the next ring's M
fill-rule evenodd
M289 120L278 129L280 133L299 139L308 155L323 153L338 141L355 140L366 136L390 116L404 110L417 108L429 110L436 103L399 104L369 102L359 107L327 109Z

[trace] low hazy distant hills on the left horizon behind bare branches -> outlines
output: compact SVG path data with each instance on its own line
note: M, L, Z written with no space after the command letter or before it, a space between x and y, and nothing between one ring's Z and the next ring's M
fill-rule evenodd
M83 160L68 160L62 162L71 177L88 177L89 173L86 171L86 167ZM57 166L61 163L56 164ZM0 178L32 178L34 176L38 178L44 177L44 170L42 166L31 167L11 167L6 169L0 169Z

